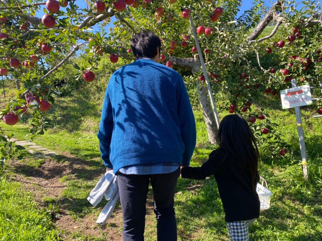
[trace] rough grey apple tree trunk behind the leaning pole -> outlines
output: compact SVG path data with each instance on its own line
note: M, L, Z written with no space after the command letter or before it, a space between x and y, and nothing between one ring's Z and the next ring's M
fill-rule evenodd
M215 115L213 113L213 108L210 103L208 89L205 86L201 86L200 82L197 81L197 91L198 91L198 99L201 104L202 112L204 114L204 121L207 127L208 140L210 144L215 145L218 128L215 120Z

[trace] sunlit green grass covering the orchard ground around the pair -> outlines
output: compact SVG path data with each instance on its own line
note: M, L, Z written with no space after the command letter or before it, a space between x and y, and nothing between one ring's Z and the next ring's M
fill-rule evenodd
M53 115L55 126L45 132L44 135L35 138L36 144L47 147L61 153L56 159L58 162L71 162L70 157L77 158L82 167L74 174L62 176L61 182L67 187L60 198L66 200L65 208L76 221L97 216L103 204L98 208L92 208L86 200L90 190L98 181L98 176L103 174L104 167L99 158L99 145L96 137L100 118L101 103L90 98L65 97L61 99L62 105L68 110L57 109ZM281 111L277 104L274 108L268 106L265 98L259 103L269 113L270 120L279 124L279 130L284 134L285 140L290 145L289 152L284 158L270 158L265 155L264 147L261 148L262 161L260 175L263 176L271 196L269 210L261 211L260 218L250 229L251 240L259 241L319 241L322 237L322 194L321 194L321 166L322 166L322 119L310 118L310 111L302 110L302 120L305 133L305 141L308 153L310 181L303 181L300 162L300 152L296 118L293 109ZM219 102L219 106L224 105ZM272 105L270 105L272 106ZM197 147L191 161L192 166L200 166L215 148L207 142L207 132L203 120L203 114L199 108L194 111L197 126ZM221 112L222 118L227 112ZM15 126L0 127L7 132L13 132L18 139L26 139L29 127L22 120ZM44 159L26 156L22 160L30 168L41 167ZM75 161L75 160L74 160ZM9 239L0 233L4 240L57 240L59 230L52 226L49 214L45 208L37 207L32 195L19 184L5 177L12 170L6 169L2 173L0 203L2 210L0 224L5 234L14 234L19 238ZM5 193L5 194L3 194ZM150 188L149 198L152 198ZM45 198L47 210L54 210L50 204L55 199ZM57 201L57 200L56 200ZM238 200L236 200L238 205ZM116 207L117 210L120 206ZM179 178L175 194L175 211L178 225L178 240L210 241L229 240L224 222L222 203L218 194L217 184L214 178L204 181L186 180ZM13 217L7 220L8 215ZM26 218L28 217L28 218ZM32 219L29 219L32 217ZM21 228L21 219L31 222L32 229ZM147 216L146 240L156 240L156 221L153 215ZM20 228L18 228L20 227ZM100 227L99 227L100 228ZM110 228L116 228L118 234L122 228L114 223L109 223L105 232ZM43 231L40 231L43 230ZM0 231L2 232L2 231ZM24 236L25 233L25 236ZM85 235L80 231L71 234L71 240L99 241L107 240L106 234L101 236Z

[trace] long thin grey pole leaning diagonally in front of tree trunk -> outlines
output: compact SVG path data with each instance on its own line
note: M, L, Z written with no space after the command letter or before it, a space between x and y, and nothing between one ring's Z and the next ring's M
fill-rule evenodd
M200 49L197 32L196 32L196 29L194 27L194 22L192 21L192 16L190 16L189 20L190 20L192 32L194 34L194 42L196 43L196 47L197 47L197 50L198 50L198 55L199 55L200 63L201 63L202 69L204 71L204 78L206 80L206 84L207 84L207 88L208 88L208 93L209 93L209 97L210 97L210 103L211 103L211 105L213 107L213 113L215 115L215 120L216 120L216 123L217 123L217 127L219 128L219 123L220 123L219 116L218 116L218 113L217 113L215 100L213 98L213 92L211 91L211 87L210 87L210 83L209 83L209 79L208 79L208 74L207 74L206 66L204 65L204 58L202 56L202 52L201 52L201 49Z

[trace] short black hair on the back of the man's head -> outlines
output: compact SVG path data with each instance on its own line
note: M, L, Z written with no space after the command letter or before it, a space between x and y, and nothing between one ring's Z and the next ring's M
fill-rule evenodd
M131 49L135 58L154 58L158 52L161 54L161 40L155 32L142 30L131 40Z

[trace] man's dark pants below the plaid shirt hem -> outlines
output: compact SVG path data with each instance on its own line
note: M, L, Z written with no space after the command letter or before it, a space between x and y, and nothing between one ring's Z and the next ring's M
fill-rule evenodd
M123 241L144 241L147 192L151 182L158 241L176 241L174 195L180 168L167 174L129 175L118 172L123 213Z

